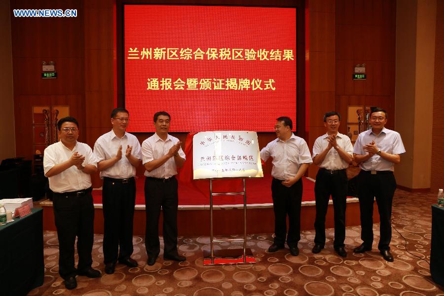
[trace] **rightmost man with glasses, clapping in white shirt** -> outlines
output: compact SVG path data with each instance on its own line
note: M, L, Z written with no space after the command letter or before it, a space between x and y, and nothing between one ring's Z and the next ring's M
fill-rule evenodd
M396 189L394 164L401 162L400 154L406 152L399 133L386 129L387 111L373 108L370 111L371 129L359 134L353 154L360 164L358 198L361 212L361 239L363 243L355 253L370 251L373 244L373 200L376 197L379 212L379 244L382 257L392 262L392 200Z

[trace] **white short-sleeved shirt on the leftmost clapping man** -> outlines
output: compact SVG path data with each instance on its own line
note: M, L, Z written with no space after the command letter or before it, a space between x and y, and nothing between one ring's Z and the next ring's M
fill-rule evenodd
M76 142L73 150L63 145L62 141L48 146L43 154L43 170L45 174L56 164L71 158L74 152L85 156L83 166L92 164L97 167L97 160L92 149L85 143ZM91 175L83 173L76 166L71 166L60 174L49 177L49 188L57 193L83 190L91 187Z

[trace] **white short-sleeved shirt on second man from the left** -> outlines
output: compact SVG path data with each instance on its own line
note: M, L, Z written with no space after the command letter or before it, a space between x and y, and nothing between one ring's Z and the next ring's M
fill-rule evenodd
M138 159L142 159L142 152L140 149L139 140L136 136L125 132L122 138L115 135L114 131L108 132L97 139L94 144L94 154L96 155L97 162L107 160L117 154L117 148L122 145L122 158L114 163L111 167L100 172L100 178L109 177L114 179L127 179L136 176L136 168L126 158L126 148L132 146L131 155Z

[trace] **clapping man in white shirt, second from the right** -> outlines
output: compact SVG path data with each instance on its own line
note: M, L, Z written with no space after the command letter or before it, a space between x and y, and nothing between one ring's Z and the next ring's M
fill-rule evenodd
M345 207L347 201L346 169L352 161L353 146L350 138L338 132L341 115L331 111L324 115L325 135L316 139L313 146L313 163L319 166L316 175L315 199L316 220L314 247L317 254L325 246L325 216L332 195L334 209L334 241L333 249L341 257L347 257L344 249L345 240Z

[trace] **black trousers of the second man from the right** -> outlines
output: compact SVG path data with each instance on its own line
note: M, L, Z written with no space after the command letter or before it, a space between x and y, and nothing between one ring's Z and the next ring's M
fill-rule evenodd
M345 169L334 171L333 174L328 170L319 169L318 174L316 175L315 183L315 244L321 246L325 245L325 216L329 207L330 195L332 195L334 210L333 247L344 247L347 184L347 173Z

